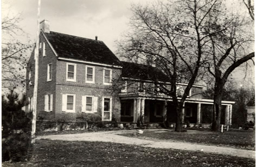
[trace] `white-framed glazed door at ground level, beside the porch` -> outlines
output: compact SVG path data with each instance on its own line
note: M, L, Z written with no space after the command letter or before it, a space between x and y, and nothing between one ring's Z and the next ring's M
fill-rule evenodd
M112 119L112 97L102 98L102 120L110 121Z

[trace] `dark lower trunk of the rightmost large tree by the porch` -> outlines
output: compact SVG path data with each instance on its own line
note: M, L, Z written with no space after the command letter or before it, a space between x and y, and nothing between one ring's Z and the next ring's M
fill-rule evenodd
M222 99L222 88L216 86L214 90L214 102L213 102L213 123L212 131L218 131L220 128L220 117L221 117L221 99Z

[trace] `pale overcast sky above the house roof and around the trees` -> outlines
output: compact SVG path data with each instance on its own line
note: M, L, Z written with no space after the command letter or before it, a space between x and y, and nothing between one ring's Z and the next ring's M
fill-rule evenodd
M149 3L150 0L41 0L40 20L50 21L50 30L59 33L95 38L116 51L114 41L127 30L131 3ZM242 1L229 0L235 10L246 12ZM20 23L32 41L36 37L37 0L2 0L2 17L20 14ZM23 38L22 40L27 40ZM251 68L252 69L252 68ZM234 74L243 84L242 73ZM244 76L244 75L243 75ZM247 78L254 78L251 73ZM254 80L254 79L253 79ZM240 84L239 84L240 85Z

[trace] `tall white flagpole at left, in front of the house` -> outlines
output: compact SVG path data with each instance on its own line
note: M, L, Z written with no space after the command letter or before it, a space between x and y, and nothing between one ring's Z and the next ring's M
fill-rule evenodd
M37 33L36 33L36 48L35 48L35 84L33 94L33 118L31 130L31 143L35 143L36 133L36 102L37 102L37 86L38 86L38 66L39 66L39 35L40 35L40 7L41 0L38 0L37 6Z

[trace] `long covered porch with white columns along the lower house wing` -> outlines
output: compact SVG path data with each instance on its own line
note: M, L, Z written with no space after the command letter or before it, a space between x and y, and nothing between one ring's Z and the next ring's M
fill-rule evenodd
M137 123L176 123L176 111L171 98L145 95L120 97L121 121ZM232 124L233 101L222 101L221 124ZM213 100L188 98L182 108L183 124L210 124Z

